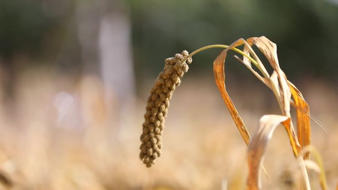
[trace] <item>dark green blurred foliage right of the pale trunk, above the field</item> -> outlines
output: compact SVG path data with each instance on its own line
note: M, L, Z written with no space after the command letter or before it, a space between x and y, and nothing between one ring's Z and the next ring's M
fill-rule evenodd
M186 48L238 38L266 36L278 45L282 68L295 79L319 76L337 80L338 6L317 0L129 0L136 70L159 71L163 60ZM195 56L194 68L209 68L210 50ZM242 73L240 64L228 69ZM194 72L192 70L191 72ZM212 72L209 72L212 74ZM232 73L232 72L230 72Z

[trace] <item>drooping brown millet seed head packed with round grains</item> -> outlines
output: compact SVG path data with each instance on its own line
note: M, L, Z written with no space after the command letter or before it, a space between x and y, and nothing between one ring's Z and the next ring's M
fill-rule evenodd
M142 142L140 159L147 167L154 165L155 159L161 156L162 133L169 100L175 87L181 83L180 78L188 71L188 64L192 62L192 59L188 58L186 62L181 63L188 55L188 51L184 50L181 54L166 59L163 72L159 74L154 87L150 90L140 137Z

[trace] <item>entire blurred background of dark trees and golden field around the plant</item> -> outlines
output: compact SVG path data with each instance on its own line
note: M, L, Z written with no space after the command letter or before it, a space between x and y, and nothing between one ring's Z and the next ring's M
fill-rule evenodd
M138 158L139 135L166 58L260 36L277 44L281 68L329 129L312 121L312 142L334 189L337 23L337 0L0 0L0 189L244 189L246 146L212 76L221 49L193 57L152 168ZM278 104L232 56L225 73L253 135L263 114L279 114ZM264 165L274 189L299 189L282 127ZM319 189L318 175L309 175ZM271 189L265 178L263 187Z

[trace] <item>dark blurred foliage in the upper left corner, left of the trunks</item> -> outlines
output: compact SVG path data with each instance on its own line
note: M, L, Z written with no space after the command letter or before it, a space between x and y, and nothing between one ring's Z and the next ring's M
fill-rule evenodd
M0 1L0 66L5 98L13 98L16 75L25 68L41 64L79 67L74 51L78 43L72 38L72 20L68 20L73 5L66 0Z

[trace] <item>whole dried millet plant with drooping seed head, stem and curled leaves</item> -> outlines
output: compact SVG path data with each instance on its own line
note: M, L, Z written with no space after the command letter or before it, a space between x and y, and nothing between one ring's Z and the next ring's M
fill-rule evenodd
M243 50L237 48L241 45L244 45ZM253 51L253 45L257 46L267 58L273 68L271 75L266 71L261 60ZM144 114L145 121L142 125L142 134L140 137L142 142L140 146L140 159L143 163L146 164L147 167L151 167L154 165L155 159L161 156L161 136L165 127L169 101L173 91L179 86L184 73L188 71L188 64L191 64L192 56L205 49L214 47L224 48L213 62L215 83L244 142L248 145L249 175L247 190L261 189L260 170L262 169L265 172L262 163L267 143L279 124L284 125L290 139L293 153L296 159L299 160L304 179L303 188L306 190L311 189L307 169L319 168L315 170L320 174L319 181L322 189L326 190L327 185L323 164L318 152L311 147L310 118L314 119L314 121L316 121L316 119L309 113L309 106L300 91L287 79L287 76L280 68L277 57L277 45L265 37L248 38L247 40L241 38L231 45L209 45L190 54L184 50L181 54L176 54L174 57L166 59L164 71L159 74L155 80L154 87L150 91L146 113ZM226 91L224 65L229 50L241 54L243 59L236 55L235 58L243 63L254 76L272 90L281 111L280 115L263 115L260 118L258 130L253 138L250 137L246 125ZM256 67L259 73L256 72L253 67ZM296 109L296 129L291 119L291 106ZM317 162L315 163L316 167L313 167L313 162L309 162L308 160L309 153L311 152L314 153L317 158ZM265 172L265 174L268 177L267 172Z

